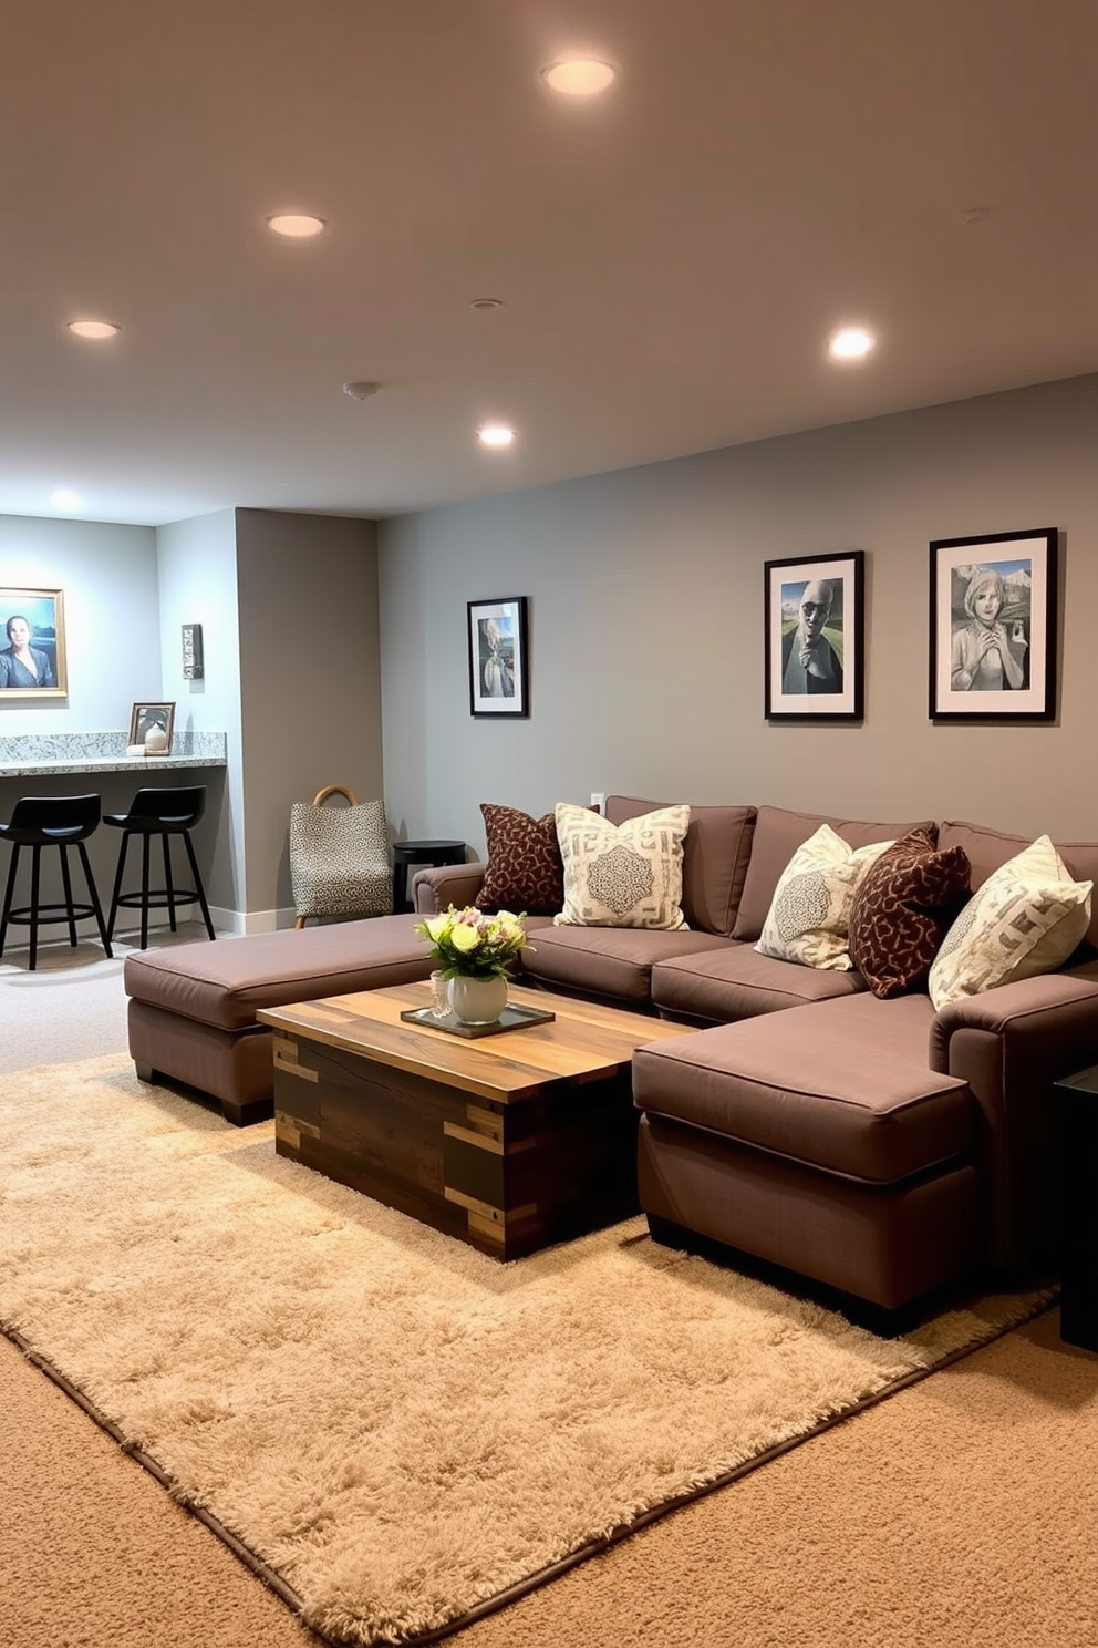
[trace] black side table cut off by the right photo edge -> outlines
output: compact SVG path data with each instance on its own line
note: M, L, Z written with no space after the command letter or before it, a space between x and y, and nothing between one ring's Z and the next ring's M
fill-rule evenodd
M1098 1350L1098 1065L1054 1083L1060 1109L1060 1338Z

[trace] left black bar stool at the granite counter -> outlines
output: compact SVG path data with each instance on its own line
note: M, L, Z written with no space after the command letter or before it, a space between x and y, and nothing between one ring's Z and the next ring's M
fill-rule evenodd
M84 916L95 916L99 936L107 954L110 934L104 925L104 913L92 880L92 867L87 862L84 842L99 827L99 796L23 796L15 803L12 817L0 824L0 840L12 842L12 865L8 868L8 885L3 893L3 915L0 915L0 956L8 925L28 926L31 929L31 972L38 966L38 928L64 921L69 928L69 943L76 949L76 923ZM15 893L15 872L20 862L20 850L31 849L31 901L18 910L12 908ZM63 905L43 905L40 900L40 859L43 847L58 847L61 852L61 885L64 887ZM72 880L69 877L69 847L76 847L81 855L84 880L87 882L89 903L72 903Z

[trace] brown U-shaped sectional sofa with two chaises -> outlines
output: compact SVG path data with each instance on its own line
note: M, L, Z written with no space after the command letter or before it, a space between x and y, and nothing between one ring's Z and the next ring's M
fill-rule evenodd
M660 804L611 796L606 812L622 822ZM886 1312L979 1269L1029 1279L1055 1252L1050 1086L1098 1061L1098 911L1060 972L938 1014L925 992L879 1000L854 972L754 949L780 872L820 822L851 847L935 831L691 808L688 929L533 918L525 969L550 989L698 1027L634 1060L640 1205L658 1238L719 1243ZM1027 845L963 822L937 837L965 847L973 887ZM1077 880L1098 880L1098 842L1057 845ZM421 870L416 911L472 901L482 873ZM132 956L132 1053L217 1094L230 1116L242 1099L262 1104L270 1053L255 1007L425 977L413 920Z

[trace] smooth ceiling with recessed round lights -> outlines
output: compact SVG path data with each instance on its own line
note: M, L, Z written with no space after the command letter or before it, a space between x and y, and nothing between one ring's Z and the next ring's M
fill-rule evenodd
M5 0L0 511L385 516L1095 371L1096 160L1098 0Z

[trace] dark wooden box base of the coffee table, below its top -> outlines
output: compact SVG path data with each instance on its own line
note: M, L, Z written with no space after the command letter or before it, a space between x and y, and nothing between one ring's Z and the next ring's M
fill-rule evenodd
M275 1149L494 1259L639 1211L627 1068L500 1104L275 1032Z

